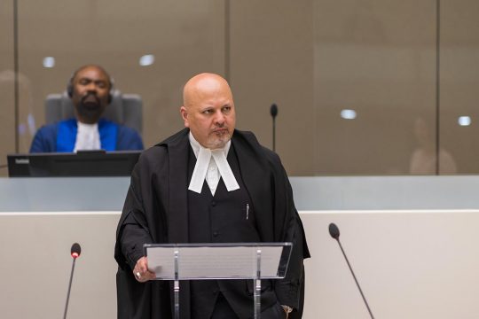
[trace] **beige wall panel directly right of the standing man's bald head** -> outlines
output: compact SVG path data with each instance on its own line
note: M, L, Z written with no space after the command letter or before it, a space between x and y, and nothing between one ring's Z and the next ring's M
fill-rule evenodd
M312 1L231 1L231 84L240 129L272 148L289 175L313 174Z

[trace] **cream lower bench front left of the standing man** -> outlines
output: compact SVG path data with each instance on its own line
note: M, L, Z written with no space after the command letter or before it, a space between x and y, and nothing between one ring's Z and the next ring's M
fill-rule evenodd
M67 318L116 318L114 230L119 217L108 212L0 214L0 251L12 261L0 266L0 316L63 318L70 248L79 243Z

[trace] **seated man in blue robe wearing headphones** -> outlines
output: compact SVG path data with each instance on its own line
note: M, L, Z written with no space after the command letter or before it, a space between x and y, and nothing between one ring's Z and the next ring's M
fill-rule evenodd
M30 152L143 150L137 131L101 118L111 102L112 80L100 66L82 66L68 83L75 118L40 128Z

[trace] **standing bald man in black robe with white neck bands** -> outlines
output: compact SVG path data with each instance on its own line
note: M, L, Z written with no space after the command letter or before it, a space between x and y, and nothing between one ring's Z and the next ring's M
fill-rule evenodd
M262 318L301 317L310 257L291 185L276 153L235 129L228 82L198 74L185 84L185 129L138 159L116 232L118 318L171 318L172 287L152 281L150 243L293 242L287 276L262 281ZM182 319L251 318L247 280L180 282Z

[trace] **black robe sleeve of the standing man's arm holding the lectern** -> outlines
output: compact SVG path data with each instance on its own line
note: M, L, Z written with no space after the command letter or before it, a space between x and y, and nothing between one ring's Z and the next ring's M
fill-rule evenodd
M148 152L146 152L148 153ZM149 155L148 155L149 154ZM152 158L157 152L140 155L131 174L122 216L116 230L114 258L118 262L116 273L118 319L171 318L169 282L151 280L139 283L132 269L144 255L143 245L158 240L152 212L158 213L153 202Z

